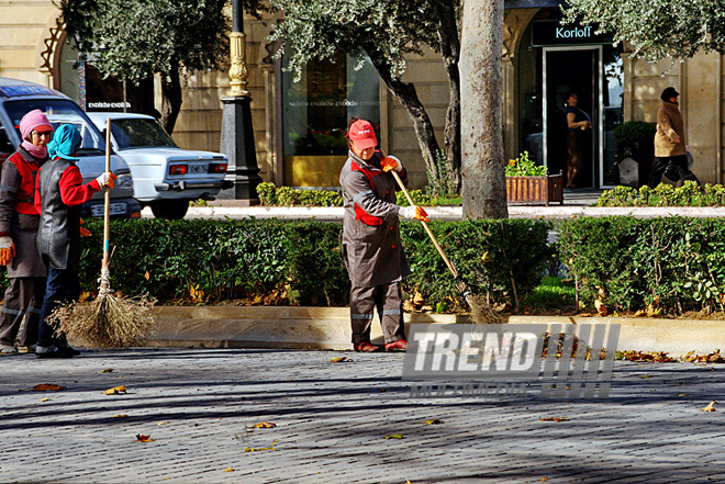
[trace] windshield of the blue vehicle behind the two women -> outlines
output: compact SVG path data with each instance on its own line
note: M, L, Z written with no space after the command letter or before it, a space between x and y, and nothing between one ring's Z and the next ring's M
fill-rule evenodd
M57 128L62 124L72 124L76 126L82 142L79 153L82 151L103 151L105 143L96 126L90 122L78 105L72 101L65 99L29 99L5 102L5 110L12 120L13 126L18 130L20 136L20 120L32 110L41 110L48 116L53 127Z

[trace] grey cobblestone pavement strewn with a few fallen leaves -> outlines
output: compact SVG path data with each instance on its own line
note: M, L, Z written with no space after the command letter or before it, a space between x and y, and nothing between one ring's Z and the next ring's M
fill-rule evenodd
M0 481L725 482L725 407L701 412L723 397L725 365L617 361L611 397L565 402L411 398L402 360L199 349L3 357ZM31 390L41 383L65 389ZM116 385L127 392L103 394ZM255 428L263 421L276 427Z

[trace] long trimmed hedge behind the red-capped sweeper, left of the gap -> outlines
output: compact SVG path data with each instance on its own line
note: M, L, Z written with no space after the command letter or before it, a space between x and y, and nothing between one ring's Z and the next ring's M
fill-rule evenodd
M102 221L87 220L81 286L98 289ZM504 220L433 222L447 256L471 289L515 304L540 280L549 224ZM428 304L465 307L453 278L419 223L403 223L403 246L413 269L403 289ZM111 285L123 294L148 293L159 303L344 305L349 279L341 256L342 225L268 221L112 221ZM515 289L515 291L514 291Z

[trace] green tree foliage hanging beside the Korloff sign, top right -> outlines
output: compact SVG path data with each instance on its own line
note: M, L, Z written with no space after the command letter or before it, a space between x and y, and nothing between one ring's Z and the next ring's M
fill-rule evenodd
M568 0L567 20L596 23L632 44L634 56L650 61L692 57L699 50L725 53L722 0Z

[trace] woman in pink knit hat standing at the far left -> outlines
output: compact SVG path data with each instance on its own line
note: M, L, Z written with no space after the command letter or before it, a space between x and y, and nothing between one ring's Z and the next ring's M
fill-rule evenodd
M48 159L53 126L41 110L20 120L23 143L2 164L0 184L0 264L8 266L10 286L0 312L0 354L35 350L37 320L45 293L46 269L37 254L35 236L40 215L33 203L37 170Z

